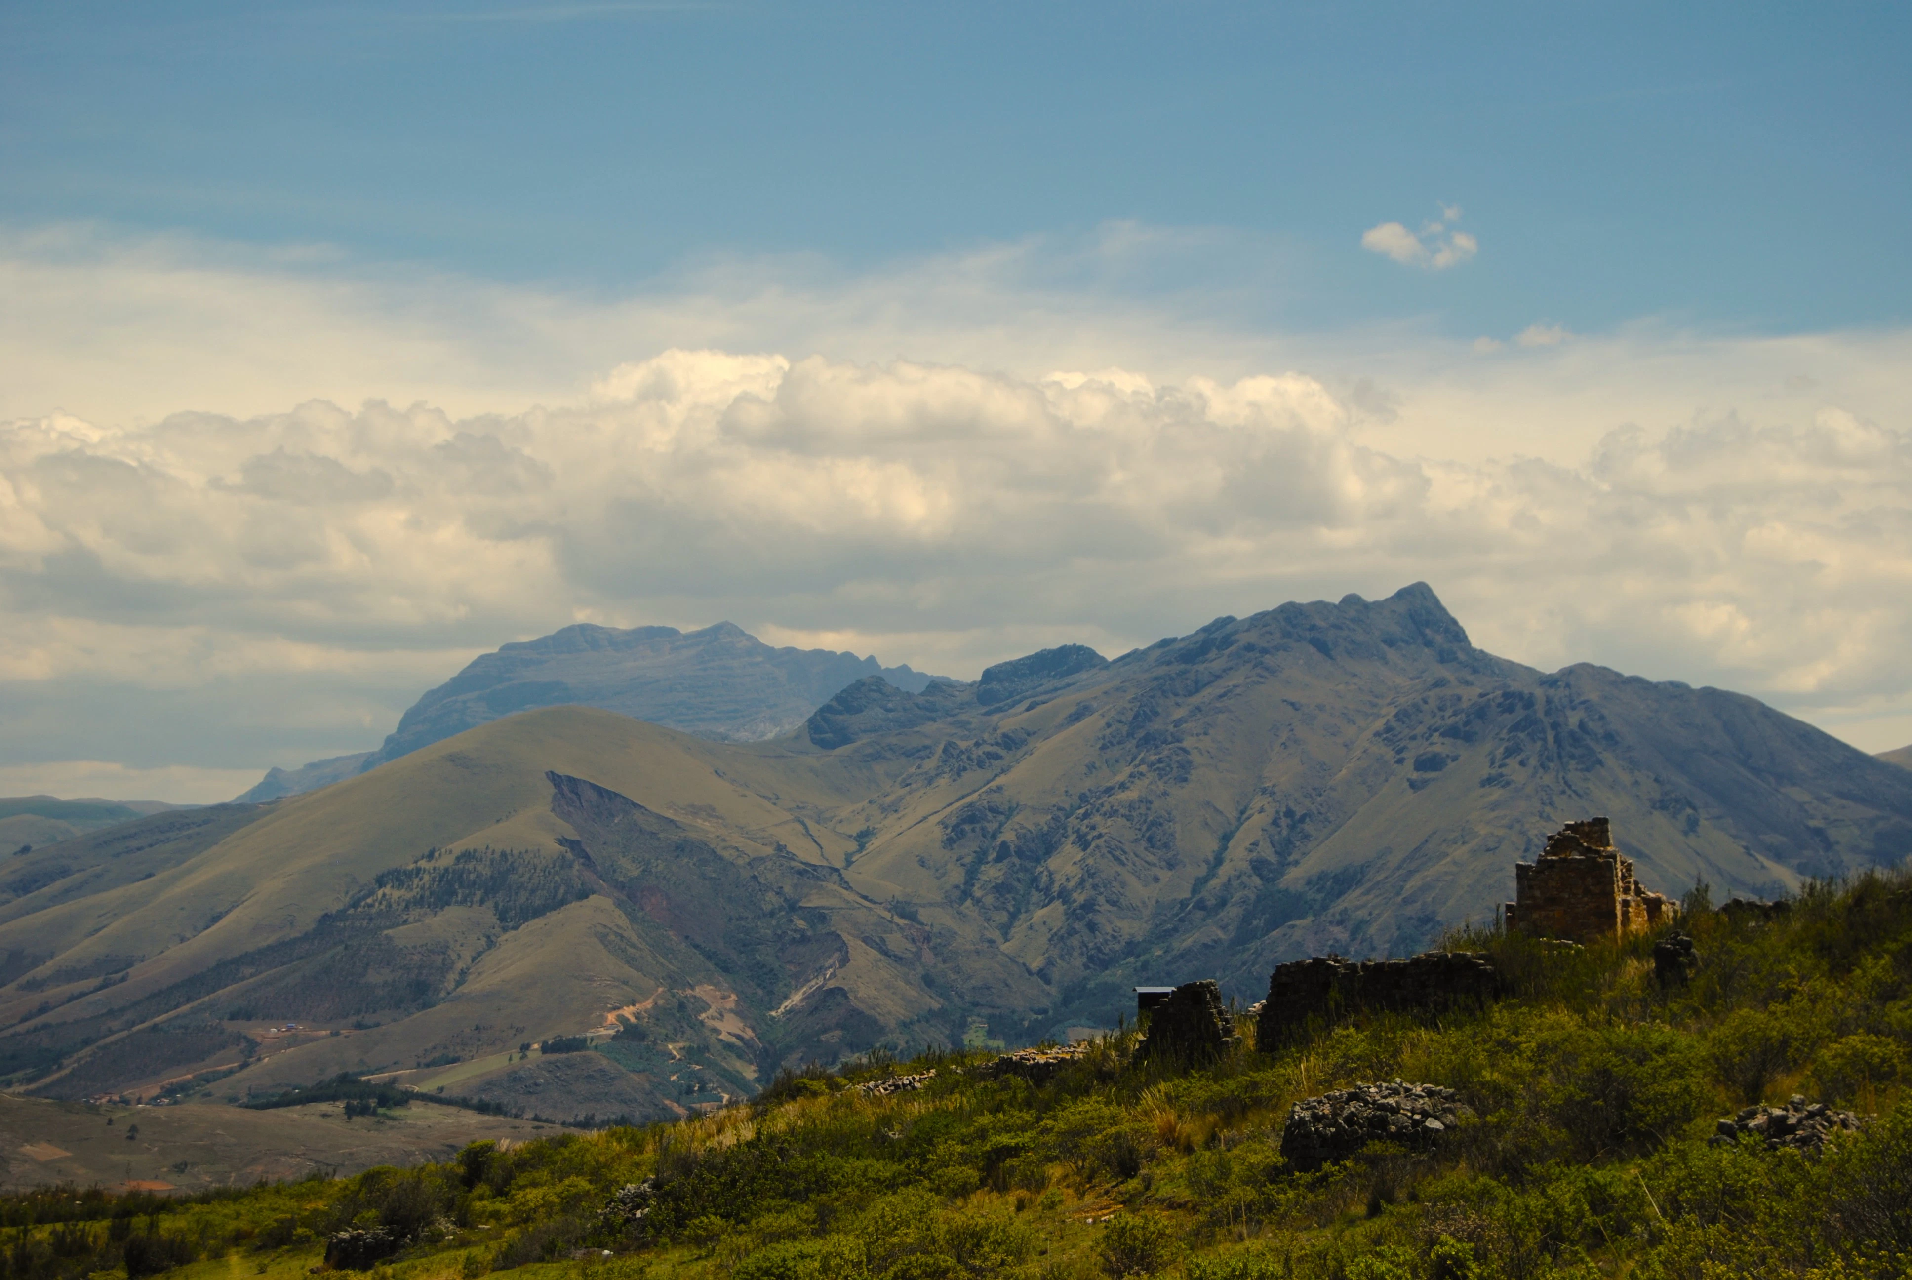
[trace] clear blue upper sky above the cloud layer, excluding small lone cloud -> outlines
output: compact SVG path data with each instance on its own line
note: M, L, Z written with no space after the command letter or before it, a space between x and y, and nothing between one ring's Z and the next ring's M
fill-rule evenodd
M1912 10L13 4L0 218L606 291L1107 222L1321 327L1906 318ZM1467 270L1359 247L1461 209Z

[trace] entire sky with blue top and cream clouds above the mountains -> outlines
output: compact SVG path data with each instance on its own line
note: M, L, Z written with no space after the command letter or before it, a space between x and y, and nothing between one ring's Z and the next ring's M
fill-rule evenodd
M1912 742L1912 11L0 6L0 792L1428 582Z

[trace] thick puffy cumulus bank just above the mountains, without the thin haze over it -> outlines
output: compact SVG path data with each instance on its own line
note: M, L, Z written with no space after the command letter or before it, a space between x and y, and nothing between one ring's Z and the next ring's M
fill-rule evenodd
M1300 373L667 350L516 413L19 419L0 427L0 746L298 763L375 744L472 652L574 620L732 618L973 675L1413 580L1507 656L1912 737L1904 430L1717 413L1610 430L1574 465L1470 463L1377 448L1359 400Z

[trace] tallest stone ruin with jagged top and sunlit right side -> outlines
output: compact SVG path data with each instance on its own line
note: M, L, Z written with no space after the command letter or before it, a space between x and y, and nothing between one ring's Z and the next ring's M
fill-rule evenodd
M1501 907L1509 932L1581 945L1644 934L1679 916L1679 903L1650 894L1633 859L1614 848L1604 817L1568 823L1532 863L1514 863L1514 901Z

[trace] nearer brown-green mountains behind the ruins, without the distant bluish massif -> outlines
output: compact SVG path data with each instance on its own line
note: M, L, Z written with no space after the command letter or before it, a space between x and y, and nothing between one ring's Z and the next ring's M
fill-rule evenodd
M1715 899L1912 853L1912 771L1742 695L1497 658L1421 584L973 685L872 672L761 740L486 702L593 643L445 685L497 716L323 790L13 859L0 1071L681 1114L880 1043L1109 1026L1138 982L1247 1001L1285 959L1411 953L1570 819Z

